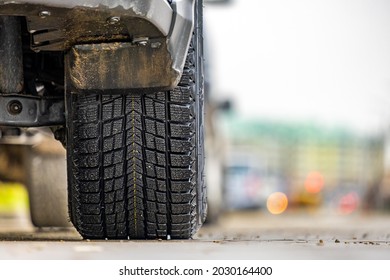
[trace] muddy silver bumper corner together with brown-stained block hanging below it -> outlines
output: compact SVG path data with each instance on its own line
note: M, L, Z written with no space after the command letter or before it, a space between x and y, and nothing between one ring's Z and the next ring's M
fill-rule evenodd
M68 53L67 61L73 67L71 86L78 90L167 90L177 85L183 71L194 28L195 1L0 0L0 15L26 17L33 50ZM119 49L117 43L122 43ZM103 50L107 46L119 59ZM87 59L82 65L77 64L79 53ZM113 71L109 78L117 76L118 68L125 69L121 73L124 80L112 84L95 78L91 85L76 81L84 74L91 77L93 71L85 67L98 58L105 73L107 69ZM122 58L125 62L131 60L129 65L122 65Z

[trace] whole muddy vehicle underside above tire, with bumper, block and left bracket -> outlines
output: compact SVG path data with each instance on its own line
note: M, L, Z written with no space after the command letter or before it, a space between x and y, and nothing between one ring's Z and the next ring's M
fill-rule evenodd
M64 126L64 94L174 88L194 3L0 0L0 126Z

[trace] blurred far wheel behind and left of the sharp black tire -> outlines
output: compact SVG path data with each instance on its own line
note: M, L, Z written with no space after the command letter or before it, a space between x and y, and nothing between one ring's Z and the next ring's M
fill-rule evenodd
M64 148L54 139L26 148L24 169L33 225L71 227Z

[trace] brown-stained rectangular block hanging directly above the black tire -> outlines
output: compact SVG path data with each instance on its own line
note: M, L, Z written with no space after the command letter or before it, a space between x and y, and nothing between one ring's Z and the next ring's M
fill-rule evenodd
M153 42L159 48L140 42L73 47L66 56L70 84L81 90L170 88L180 73L171 68L166 42Z

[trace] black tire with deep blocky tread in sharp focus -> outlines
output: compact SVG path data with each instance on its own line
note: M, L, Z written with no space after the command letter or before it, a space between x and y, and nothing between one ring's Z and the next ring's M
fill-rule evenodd
M187 239L205 220L202 34L179 85L68 96L71 221L90 239Z

